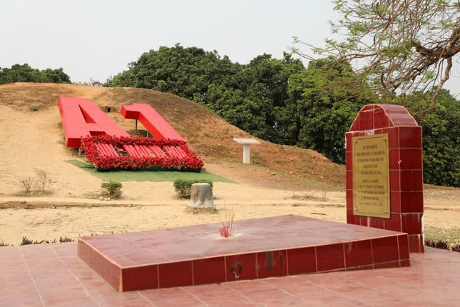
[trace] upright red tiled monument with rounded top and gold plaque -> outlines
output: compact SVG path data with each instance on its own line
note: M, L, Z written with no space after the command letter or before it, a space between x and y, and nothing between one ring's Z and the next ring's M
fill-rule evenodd
M347 223L401 231L424 252L421 126L403 106L364 106L345 134Z

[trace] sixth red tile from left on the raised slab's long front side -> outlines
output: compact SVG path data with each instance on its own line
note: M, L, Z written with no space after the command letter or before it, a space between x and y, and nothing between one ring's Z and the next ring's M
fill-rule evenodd
M287 250L287 270L290 275L316 272L315 247Z

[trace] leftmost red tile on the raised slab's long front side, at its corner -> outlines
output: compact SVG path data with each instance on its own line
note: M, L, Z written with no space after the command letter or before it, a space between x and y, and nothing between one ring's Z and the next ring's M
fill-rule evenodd
M158 288L158 266L134 266L121 271L120 291Z

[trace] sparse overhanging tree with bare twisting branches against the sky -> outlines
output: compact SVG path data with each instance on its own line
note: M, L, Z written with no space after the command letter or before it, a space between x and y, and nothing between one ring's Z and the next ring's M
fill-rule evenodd
M460 52L459 1L335 0L334 4L340 18L332 23L332 32L343 39L327 39L324 48L313 51L352 63L382 101L391 101L397 93L425 91L431 100L420 116L434 109Z

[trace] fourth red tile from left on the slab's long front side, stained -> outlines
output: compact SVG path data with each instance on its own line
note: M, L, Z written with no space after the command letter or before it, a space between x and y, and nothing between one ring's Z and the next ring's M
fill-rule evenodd
M241 281L257 278L256 254L247 253L225 257L227 281Z

